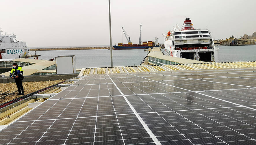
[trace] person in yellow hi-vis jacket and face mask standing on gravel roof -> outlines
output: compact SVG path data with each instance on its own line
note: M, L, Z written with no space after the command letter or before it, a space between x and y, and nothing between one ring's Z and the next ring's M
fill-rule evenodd
M13 68L11 70L10 77L15 80L15 83L17 85L18 92L19 92L17 94L17 96L24 95L24 89L22 86L22 80L24 79L23 69L22 69L22 67L18 66L17 63L13 63L12 66L13 66Z

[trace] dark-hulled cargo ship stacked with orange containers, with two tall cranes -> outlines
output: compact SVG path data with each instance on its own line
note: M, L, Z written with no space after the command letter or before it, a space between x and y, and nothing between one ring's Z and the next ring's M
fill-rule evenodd
M155 37L154 41L144 41L141 44L141 25L140 25L140 37L139 37L139 44L132 44L130 36L127 34L127 32L122 27L122 30L125 34L125 37L128 41L127 44L118 43L118 45L114 45L114 49L144 49L144 48L153 48L153 47L159 47L158 38Z

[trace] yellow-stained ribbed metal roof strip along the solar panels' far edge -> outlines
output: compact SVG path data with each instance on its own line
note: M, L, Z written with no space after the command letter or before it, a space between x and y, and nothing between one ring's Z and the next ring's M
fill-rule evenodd
M82 68L79 76L91 75L91 74L139 73L139 72L156 72L156 71L171 71L171 70L201 70L201 69L217 69L217 68L244 68L244 67L256 67L256 62L255 61L213 62L213 63L205 62L205 63L170 64L170 65Z

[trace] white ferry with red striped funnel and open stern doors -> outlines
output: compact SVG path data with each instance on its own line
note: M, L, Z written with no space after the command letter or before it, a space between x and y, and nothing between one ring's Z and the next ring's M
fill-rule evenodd
M211 33L207 29L194 29L190 18L186 18L181 29L176 25L164 41L165 55L218 62L218 48L215 48Z

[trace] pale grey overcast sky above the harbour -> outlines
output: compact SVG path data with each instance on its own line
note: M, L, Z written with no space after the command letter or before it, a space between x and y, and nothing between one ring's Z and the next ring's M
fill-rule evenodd
M155 36L164 43L177 23L190 17L194 28L207 28L214 39L252 35L255 0L173 1L110 0L112 44L123 41L121 27L138 44ZM15 33L28 47L109 45L108 0L1 0L2 33ZM123 36L123 40L122 40Z

